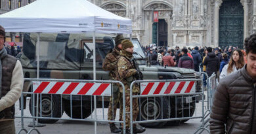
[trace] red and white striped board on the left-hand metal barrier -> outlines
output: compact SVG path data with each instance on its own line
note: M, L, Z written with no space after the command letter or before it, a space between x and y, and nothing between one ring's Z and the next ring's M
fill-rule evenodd
M33 81L33 93L68 95L111 95L110 83Z

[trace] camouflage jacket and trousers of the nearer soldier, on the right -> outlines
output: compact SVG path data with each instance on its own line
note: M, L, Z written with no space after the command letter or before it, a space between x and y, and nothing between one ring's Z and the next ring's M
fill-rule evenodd
M137 70L134 68L133 63L130 61L133 57L132 54L128 54L125 50L121 50L120 56L117 60L117 75L119 76L119 80L125 86L125 112L130 112L130 86L131 82L135 80L134 75L137 73ZM123 93L121 87L119 88L120 95ZM133 86L133 95L138 95L140 90L139 86ZM123 97L122 95L120 96ZM122 99L120 101L120 109L122 109ZM138 98L133 99L133 121L136 120L139 114L139 104ZM122 118L123 120L123 118ZM130 115L125 115L125 127L129 129L130 127Z

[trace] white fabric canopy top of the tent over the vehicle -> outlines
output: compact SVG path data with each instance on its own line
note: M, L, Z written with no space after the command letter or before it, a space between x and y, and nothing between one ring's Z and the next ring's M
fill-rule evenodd
M7 32L131 33L131 19L117 16L87 0L37 0L0 15Z

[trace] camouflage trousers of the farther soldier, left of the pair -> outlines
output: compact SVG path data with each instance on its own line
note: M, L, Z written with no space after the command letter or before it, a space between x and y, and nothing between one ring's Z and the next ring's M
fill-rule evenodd
M108 120L116 119L116 109L120 101L119 92L114 93L114 95L110 96L110 103L108 105ZM120 106L119 106L120 107ZM119 113L121 114L121 112ZM119 115L119 120L121 120L121 116ZM110 122L112 124L112 122Z

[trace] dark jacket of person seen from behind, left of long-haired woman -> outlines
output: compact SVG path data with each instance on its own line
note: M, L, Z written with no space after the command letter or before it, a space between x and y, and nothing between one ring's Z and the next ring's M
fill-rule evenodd
M211 76L213 73L217 74L217 71L219 71L220 67L219 58L215 55L214 52L210 52L204 59L203 65L206 66L206 73L208 76Z

